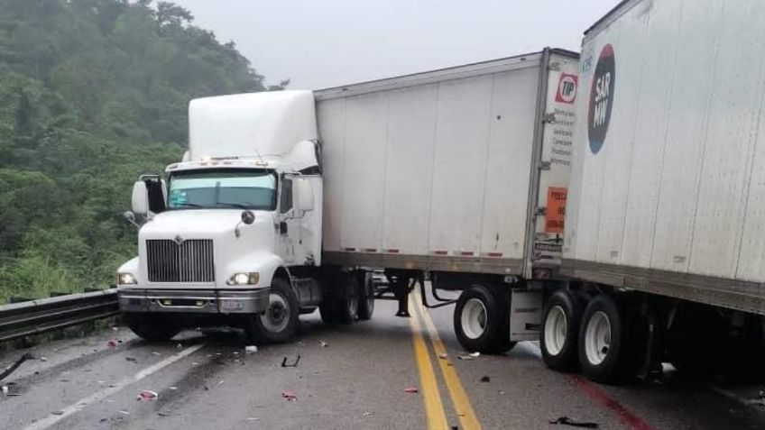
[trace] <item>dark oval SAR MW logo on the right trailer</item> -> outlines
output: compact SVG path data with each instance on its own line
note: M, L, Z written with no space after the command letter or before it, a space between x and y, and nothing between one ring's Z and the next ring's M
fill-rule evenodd
M613 46L606 44L600 51L600 58L595 66L593 84L590 89L589 114L587 114L590 151L594 154L603 147L605 133L608 132L615 85L616 64L613 58Z

